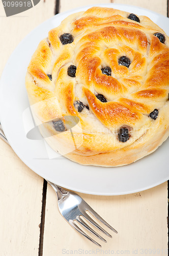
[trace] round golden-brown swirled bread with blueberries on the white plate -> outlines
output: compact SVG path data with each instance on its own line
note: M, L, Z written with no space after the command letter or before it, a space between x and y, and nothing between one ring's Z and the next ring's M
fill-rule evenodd
M155 151L169 135L168 46L148 17L112 8L50 30L26 73L47 143L85 165L120 166Z

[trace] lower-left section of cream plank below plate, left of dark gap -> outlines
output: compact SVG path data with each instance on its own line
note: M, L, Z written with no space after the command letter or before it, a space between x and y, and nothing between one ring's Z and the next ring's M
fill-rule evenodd
M0 162L0 254L37 256L43 179L2 140Z

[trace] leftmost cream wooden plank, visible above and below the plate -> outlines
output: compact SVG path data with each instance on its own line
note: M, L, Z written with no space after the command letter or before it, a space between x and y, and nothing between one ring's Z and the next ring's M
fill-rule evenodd
M54 14L55 0L41 1L34 8L5 16L0 1L0 74L19 42ZM24 57L24 56L23 56ZM21 162L12 148L0 140L0 255L38 256L43 179Z

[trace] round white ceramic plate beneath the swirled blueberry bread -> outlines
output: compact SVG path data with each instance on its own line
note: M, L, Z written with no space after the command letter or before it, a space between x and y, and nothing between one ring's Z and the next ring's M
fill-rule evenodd
M169 35L169 19L155 12L128 5L112 7L146 15ZM169 179L167 139L154 153L122 167L83 166L64 157L53 158L44 140L26 138L29 130L29 101L24 86L27 66L41 39L60 25L69 14L85 11L74 9L46 20L27 35L12 53L1 78L0 120L9 143L19 158L43 178L65 188L95 195L124 195L145 190ZM26 131L25 131L26 130ZM48 153L47 153L48 152ZM53 155L54 156L54 155ZM125 157L125 156L124 156Z

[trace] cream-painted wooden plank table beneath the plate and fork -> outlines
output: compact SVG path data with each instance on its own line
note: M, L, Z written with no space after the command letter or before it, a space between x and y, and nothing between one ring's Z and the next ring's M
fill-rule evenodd
M21 39L55 12L110 2L133 4L167 15L167 0L60 0L60 5L59 1L41 0L34 8L11 17L5 16L0 2L0 72ZM167 182L125 196L78 193L119 232L107 239L101 251L66 223L52 188L25 166L3 140L0 161L0 256L167 255Z

